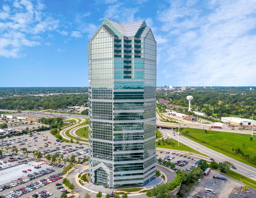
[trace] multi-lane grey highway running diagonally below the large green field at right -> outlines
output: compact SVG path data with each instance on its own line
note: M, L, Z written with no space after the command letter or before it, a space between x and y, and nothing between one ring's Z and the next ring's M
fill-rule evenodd
M170 129L162 129L161 130L163 133L167 133L167 134L171 134L172 138L174 140L178 141L178 135L176 134L175 136L173 135L173 130ZM202 154L205 154L207 156L212 157L213 159L215 159L217 162L224 162L224 161L229 161L232 164L234 164L236 166L237 169L232 169L232 171L235 171L241 175L244 175L250 179L253 179L256 181L256 168L248 165L248 164L244 164L242 162L239 162L238 160L235 160L231 157L228 157L224 154L221 154L215 150L209 149L199 143L196 143L195 141L192 141L186 137L184 137L183 135L180 135L180 142L189 146L192 149L196 149L196 147L198 147L198 151L201 152ZM252 177L249 177L246 175L246 173L249 172L252 174Z

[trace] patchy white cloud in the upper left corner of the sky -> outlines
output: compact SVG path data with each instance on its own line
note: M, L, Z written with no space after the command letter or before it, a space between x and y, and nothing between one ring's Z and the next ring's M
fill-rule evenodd
M68 35L66 31L59 30L59 19L42 12L45 5L40 0L35 5L29 0L15 0L9 5L4 4L3 10L0 10L0 56L25 56L21 50L40 45L43 37L39 34L44 32L56 31ZM50 42L45 45L50 45Z

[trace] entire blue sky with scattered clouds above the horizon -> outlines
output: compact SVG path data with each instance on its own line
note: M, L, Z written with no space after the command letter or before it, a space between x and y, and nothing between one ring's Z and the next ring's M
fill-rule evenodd
M157 86L256 84L255 0L1 0L0 87L87 86L106 17L152 28Z

